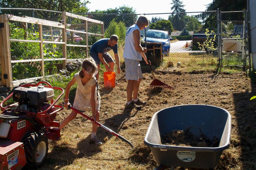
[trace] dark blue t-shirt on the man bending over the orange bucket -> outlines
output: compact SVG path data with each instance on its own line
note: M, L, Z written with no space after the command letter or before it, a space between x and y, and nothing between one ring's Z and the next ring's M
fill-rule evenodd
M90 53L107 53L110 49L113 49L117 54L117 44L114 47L108 45L109 38L102 38L94 43L90 49Z

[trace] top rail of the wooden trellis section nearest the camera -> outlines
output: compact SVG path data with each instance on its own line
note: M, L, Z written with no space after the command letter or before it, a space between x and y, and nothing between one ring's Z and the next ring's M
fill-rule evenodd
M65 28L65 25L59 22L53 22L53 21L35 19L35 18L23 18L20 16L14 16L14 15L7 15L7 17L10 21L27 22L27 23L46 25L49 27Z

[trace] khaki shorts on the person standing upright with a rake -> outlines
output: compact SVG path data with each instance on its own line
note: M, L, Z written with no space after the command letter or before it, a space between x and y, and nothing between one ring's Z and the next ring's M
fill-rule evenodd
M124 58L125 63L125 79L139 80L143 78L140 61Z

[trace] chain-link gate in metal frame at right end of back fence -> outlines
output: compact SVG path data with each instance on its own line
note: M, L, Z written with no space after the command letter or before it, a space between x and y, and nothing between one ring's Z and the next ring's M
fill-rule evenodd
M220 65L251 67L248 50L247 11L220 11Z

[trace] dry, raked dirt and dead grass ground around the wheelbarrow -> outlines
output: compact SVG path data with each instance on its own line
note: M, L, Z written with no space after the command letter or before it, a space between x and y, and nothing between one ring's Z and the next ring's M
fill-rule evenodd
M114 89L103 88L103 80L100 81L100 123L131 141L134 149L101 128L97 137L103 145L89 144L91 122L78 115L62 129L59 141L50 142L46 164L40 169L154 169L155 158L143 143L151 117L161 109L187 104L218 106L231 114L230 147L223 152L215 169L256 169L256 100L250 101L256 92L255 83L246 72L215 74L157 69L156 78L174 90L152 91L148 88L153 81L150 70L143 71L143 76L139 98L147 104L140 111L124 109L127 85L124 72L117 75ZM64 109L58 113L58 121L70 112Z

